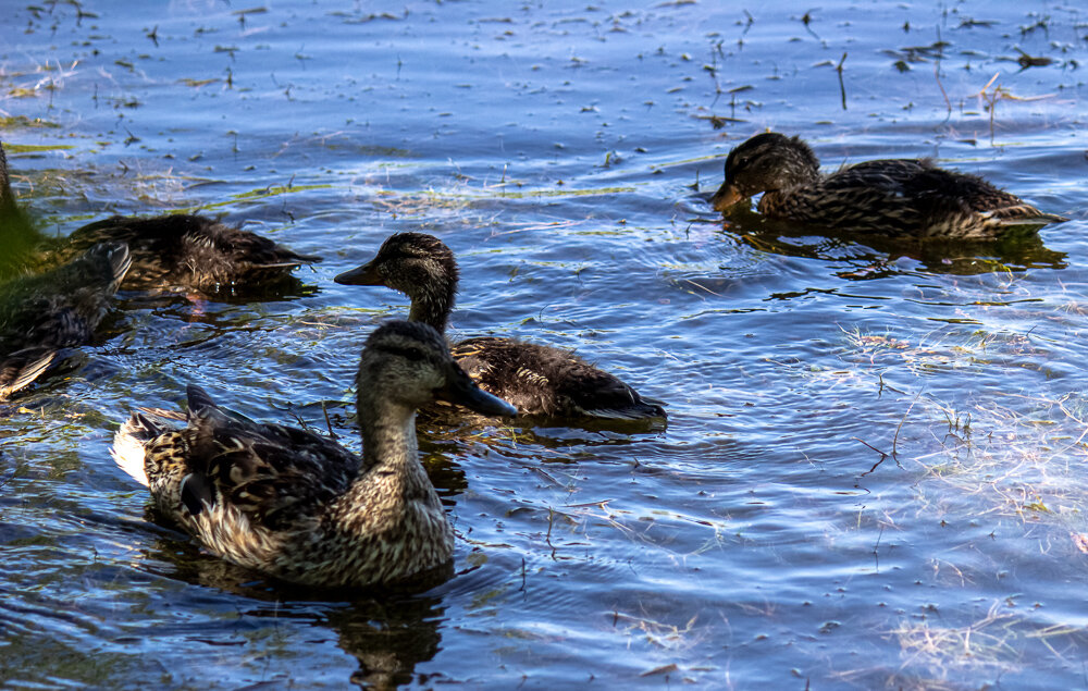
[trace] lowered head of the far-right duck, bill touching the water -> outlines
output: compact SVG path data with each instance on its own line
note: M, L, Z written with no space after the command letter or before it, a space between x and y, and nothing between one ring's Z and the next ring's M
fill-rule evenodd
M763 192L778 192L819 178L819 159L800 137L757 134L729 152L726 182L712 197L716 211Z

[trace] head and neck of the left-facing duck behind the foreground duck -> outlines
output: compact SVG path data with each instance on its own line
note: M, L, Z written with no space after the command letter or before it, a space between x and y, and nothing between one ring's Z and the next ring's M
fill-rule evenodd
M444 333L457 293L457 262L445 243L425 233L391 235L367 263L334 279L343 285L384 285L411 299L408 319Z

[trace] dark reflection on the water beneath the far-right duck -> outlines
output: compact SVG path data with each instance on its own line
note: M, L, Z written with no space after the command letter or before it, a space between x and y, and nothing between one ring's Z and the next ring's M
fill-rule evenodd
M1065 252L1048 249L1033 230L1014 229L989 242L891 239L804 227L739 207L726 214L721 227L722 233L761 252L845 262L850 268L834 275L851 281L919 272L977 275L1067 266ZM914 260L920 267L898 264L901 259Z

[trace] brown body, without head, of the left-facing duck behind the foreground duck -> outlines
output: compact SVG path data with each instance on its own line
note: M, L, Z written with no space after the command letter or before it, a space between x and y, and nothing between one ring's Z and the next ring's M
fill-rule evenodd
M569 350L511 338L469 338L452 348L484 391L524 415L636 420L665 418L656 402Z

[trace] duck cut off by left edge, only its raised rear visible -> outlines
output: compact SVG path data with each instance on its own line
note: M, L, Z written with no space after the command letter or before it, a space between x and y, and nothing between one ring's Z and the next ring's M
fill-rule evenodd
M124 243L0 285L0 400L37 380L63 349L88 343L132 266Z

